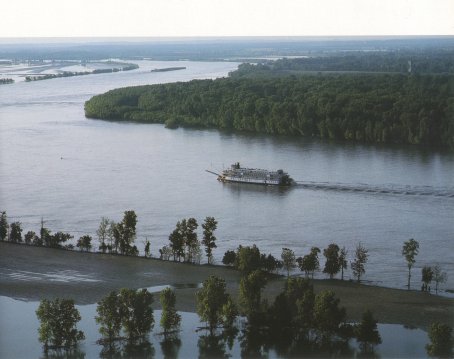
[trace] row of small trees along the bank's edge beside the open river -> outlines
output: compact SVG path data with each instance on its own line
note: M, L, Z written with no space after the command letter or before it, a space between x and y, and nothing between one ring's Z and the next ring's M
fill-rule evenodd
M123 214L120 222L112 221L102 217L96 231L100 253L116 255L139 256L139 248L135 244L137 215L135 211L128 210ZM205 250L208 265L214 263L213 251L217 248L217 237L215 231L218 221L214 217L206 217L202 223L203 238L198 239L198 222L195 218L184 218L177 221L175 229L169 235L169 244L164 245L158 250L159 259L173 260L175 262L185 262L200 264L202 258L202 246ZM41 221L40 235L34 231L28 231L22 237L22 224L18 221L8 224L6 212L0 213L0 240L13 243L25 243L38 247L49 247L56 249L74 250L72 243L65 244L74 237L66 232L52 232L44 227ZM93 238L86 234L81 236L76 247L80 251L90 252L93 249ZM96 249L95 249L96 251ZM331 243L322 250L319 247L311 247L309 253L296 257L295 252L290 248L282 248L279 258L271 253L261 253L260 249L254 244L252 246L239 245L238 248L227 250L222 258L222 264L231 266L243 274L259 270L263 273L274 274L280 270L290 276L290 272L299 268L304 272L306 278L314 278L314 274L321 270L320 253L325 257L325 264L322 272L333 279L339 272L341 280L344 280L344 270L348 269L348 250L339 247L336 243ZM408 267L407 289L410 290L411 269L416 262L419 253L419 242L414 239L405 241L402 247L402 256ZM143 256L151 258L151 242L145 239ZM353 258L350 260L350 269L353 277L359 283L366 272L366 263L369 258L369 251L361 243L355 247ZM430 292L431 283L435 284L435 293L438 294L439 286L447 281L447 273L442 270L438 263L428 266L425 265L421 270L421 291Z

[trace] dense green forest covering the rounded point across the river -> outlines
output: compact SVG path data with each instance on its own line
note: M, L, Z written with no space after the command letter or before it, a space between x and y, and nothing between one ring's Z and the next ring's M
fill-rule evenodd
M454 148L453 79L435 74L233 75L112 90L87 101L85 115L170 128Z

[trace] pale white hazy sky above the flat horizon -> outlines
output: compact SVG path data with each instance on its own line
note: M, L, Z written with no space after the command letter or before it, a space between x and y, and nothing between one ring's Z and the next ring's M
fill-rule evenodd
M454 35L454 0L13 0L0 37Z

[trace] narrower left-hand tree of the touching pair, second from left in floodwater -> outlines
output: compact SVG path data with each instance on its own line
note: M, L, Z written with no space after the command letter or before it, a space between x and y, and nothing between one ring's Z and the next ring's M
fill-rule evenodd
M102 298L98 302L96 312L98 315L95 317L95 320L97 324L100 324L99 332L103 338L111 344L120 336L123 319L121 316L121 301L118 293L113 291Z

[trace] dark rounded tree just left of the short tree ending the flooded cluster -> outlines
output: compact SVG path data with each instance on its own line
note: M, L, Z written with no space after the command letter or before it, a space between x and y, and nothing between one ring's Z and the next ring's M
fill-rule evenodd
M323 291L315 296L314 323L317 332L317 341L327 343L341 331L341 324L345 322L345 308L339 307L340 300L333 291Z

